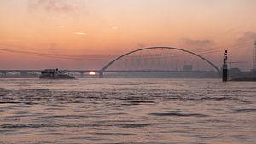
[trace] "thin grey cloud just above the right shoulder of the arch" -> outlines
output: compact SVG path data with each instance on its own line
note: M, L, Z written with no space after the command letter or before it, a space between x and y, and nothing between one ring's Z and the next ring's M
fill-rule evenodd
M194 40L189 38L183 38L182 42L186 46L195 47L195 48L212 47L215 45L214 41L210 39Z

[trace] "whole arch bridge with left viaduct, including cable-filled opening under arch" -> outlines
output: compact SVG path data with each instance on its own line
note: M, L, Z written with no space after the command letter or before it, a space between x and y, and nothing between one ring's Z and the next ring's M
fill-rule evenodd
M181 60L181 58L183 58L183 60ZM194 68L196 63L198 67ZM180 66L183 66L183 69L181 69ZM199 68L199 66L201 66L201 68ZM208 67L208 70L206 66ZM9 73L18 73L17 75L26 77L27 75L39 74L39 72L41 72L41 70L0 70L3 77L7 76ZM62 72L77 72L81 75L88 72L96 72L100 78L103 78L105 72L214 72L218 75L220 74L218 66L202 55L186 49L174 47L149 47L136 49L109 61L100 70L62 70Z

